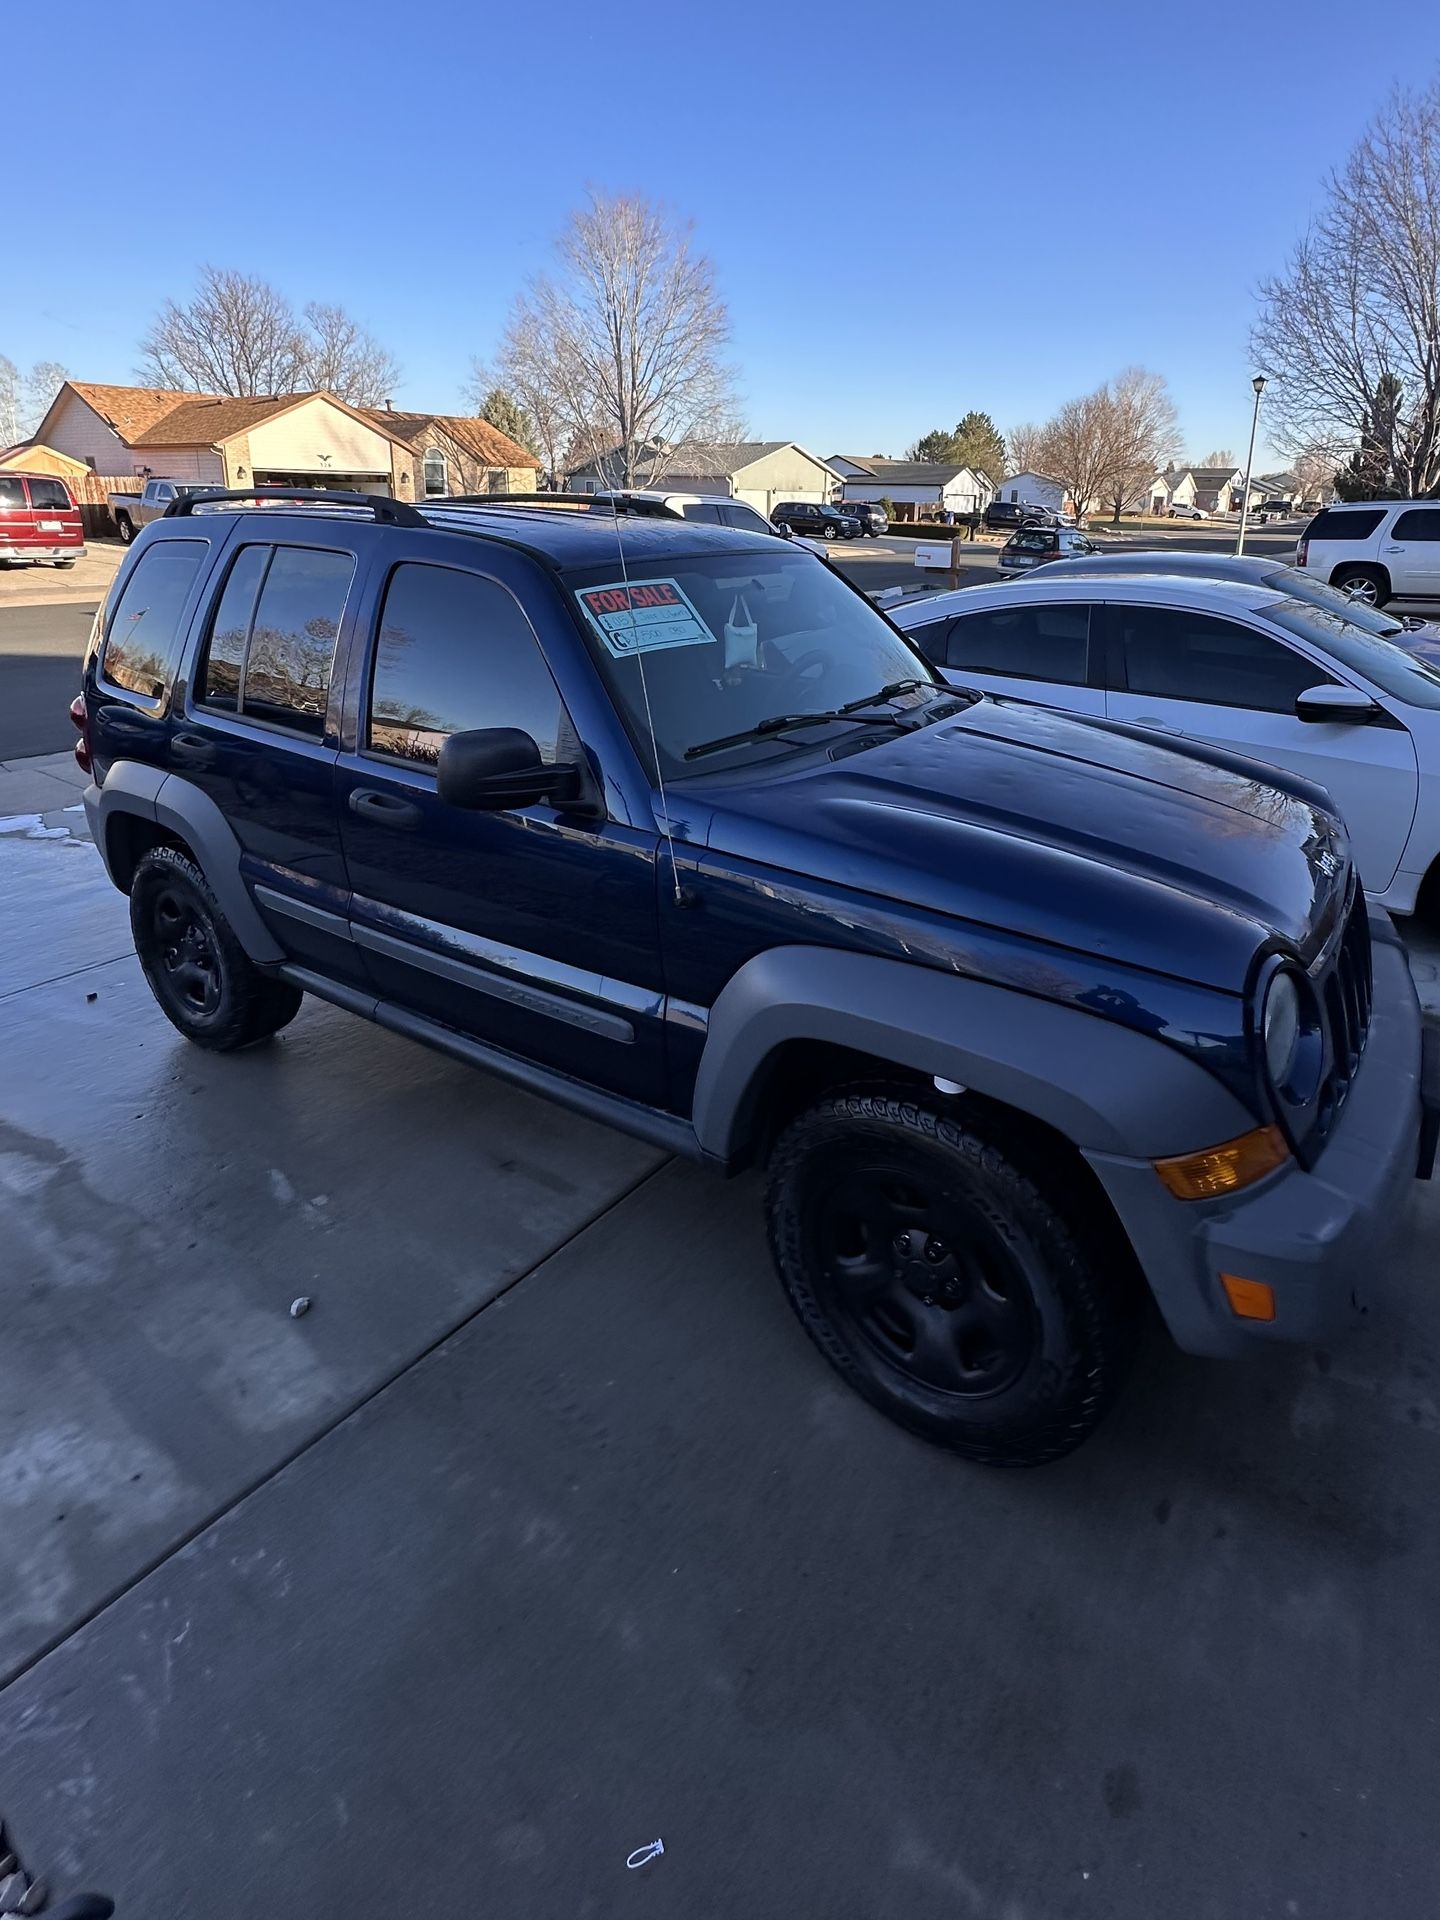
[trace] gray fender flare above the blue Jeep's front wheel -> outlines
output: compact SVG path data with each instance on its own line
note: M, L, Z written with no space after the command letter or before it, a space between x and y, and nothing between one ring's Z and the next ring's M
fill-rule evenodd
M1194 1060L1100 1014L904 960L776 947L747 960L710 1008L693 1102L707 1154L741 1154L766 1058L787 1041L958 1081L1083 1152L1154 1160L1256 1125Z

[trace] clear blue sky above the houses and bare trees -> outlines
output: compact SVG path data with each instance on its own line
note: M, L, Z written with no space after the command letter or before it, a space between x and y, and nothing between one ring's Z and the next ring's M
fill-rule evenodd
M67 0L2 42L21 367L134 378L213 261L342 301L399 405L453 409L597 184L693 217L758 436L900 453L1139 361L1190 457L1242 459L1254 284L1440 10Z

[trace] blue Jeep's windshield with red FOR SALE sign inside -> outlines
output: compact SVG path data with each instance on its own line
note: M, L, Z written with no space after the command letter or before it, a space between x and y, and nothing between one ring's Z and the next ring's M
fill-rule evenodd
M828 712L897 680L935 670L829 566L776 541L770 553L647 557L566 576L595 662L653 772L645 693L666 780L695 774L691 747L776 714ZM645 685L637 655L645 657ZM845 722L835 722L833 732ZM847 728L849 732L849 728ZM797 753L829 737L804 732L737 743L701 766Z

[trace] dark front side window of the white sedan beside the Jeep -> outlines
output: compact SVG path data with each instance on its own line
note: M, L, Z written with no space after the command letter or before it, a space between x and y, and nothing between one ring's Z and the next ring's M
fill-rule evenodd
M1112 607L1125 685L1165 701L1292 714L1306 687L1332 676L1254 628L1179 607Z

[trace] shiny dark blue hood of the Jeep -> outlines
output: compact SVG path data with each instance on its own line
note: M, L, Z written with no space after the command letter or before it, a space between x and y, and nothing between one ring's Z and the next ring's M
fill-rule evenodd
M1319 787L1020 701L705 799L710 854L1229 993L1275 937L1317 950L1350 874Z

